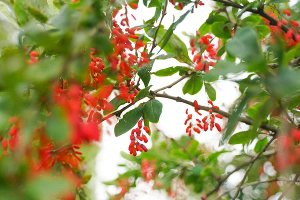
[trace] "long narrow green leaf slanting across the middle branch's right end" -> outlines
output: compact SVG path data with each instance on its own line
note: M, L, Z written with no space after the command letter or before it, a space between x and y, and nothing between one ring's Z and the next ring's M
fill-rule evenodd
M246 93L245 96L243 96L243 98L237 105L237 107L233 110L232 114L229 115L226 131L221 138L220 144L222 144L231 135L232 131L235 129L235 126L238 122L239 115L241 114L248 99L249 99L249 94Z

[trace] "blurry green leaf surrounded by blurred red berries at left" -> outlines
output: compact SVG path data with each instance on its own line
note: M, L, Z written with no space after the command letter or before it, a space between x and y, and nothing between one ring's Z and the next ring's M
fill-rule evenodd
M70 127L65 113L58 107L51 109L51 115L46 120L47 135L53 138L55 142L67 141Z

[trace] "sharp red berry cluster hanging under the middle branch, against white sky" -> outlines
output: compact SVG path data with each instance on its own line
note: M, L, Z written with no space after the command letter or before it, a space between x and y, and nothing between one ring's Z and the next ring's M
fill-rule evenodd
M212 103L211 100L208 100L207 102L211 105L212 108L217 109L217 110L219 109L218 106L213 105L213 103ZM199 109L199 104L198 104L198 102L197 102L196 100L194 100L193 105L194 105L194 110L195 110L195 112L196 112L198 115L202 115L202 114L198 111L198 109ZM187 126L186 129L185 129L185 132L188 133L188 136L191 135L191 130L193 130L193 131L195 131L195 132L197 132L197 133L200 133L200 132L201 132L200 129L203 129L204 131L206 131L206 130L208 130L208 126L210 126L210 130L212 130L213 127L216 127L216 129L217 129L218 131L221 131L220 125L219 125L218 123L216 123L216 122L214 121L214 119L215 119L215 117L221 119L221 118L223 118L223 116L220 115L220 114L212 114L212 109L209 109L208 112L209 112L208 115L204 116L204 117L202 118L202 120L200 120L199 118L196 118L196 121L197 121L197 122L196 122L196 125L194 125L194 124L193 124L193 121L192 121L192 114L189 114L189 113L188 113L188 108L185 110L185 113L187 114L187 118L186 118L186 120L184 121L184 125L186 125L187 122L189 122L188 126ZM201 124L201 123L202 123L202 124ZM192 128L192 129L191 129L191 128Z

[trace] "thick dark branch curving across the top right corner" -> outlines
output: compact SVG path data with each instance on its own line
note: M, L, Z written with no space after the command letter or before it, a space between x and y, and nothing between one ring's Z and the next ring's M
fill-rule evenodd
M236 7L236 8L239 8L239 9L243 9L244 6L238 4L238 3L235 3L235 2L232 2L231 0L213 0L215 2L221 2L223 3L224 5L227 5L227 6L231 6L231 7ZM254 14L258 14L264 18L266 18L267 20L269 20L269 24L270 25L277 25L278 21L276 19L274 19L273 17L271 17L270 15L268 15L266 12L263 11L263 9L253 9L253 8L247 8L245 9L246 11L248 12L252 12ZM281 30L283 30L285 33L289 30L285 25L281 24ZM294 41L296 41L296 36L294 33L292 33L292 39Z

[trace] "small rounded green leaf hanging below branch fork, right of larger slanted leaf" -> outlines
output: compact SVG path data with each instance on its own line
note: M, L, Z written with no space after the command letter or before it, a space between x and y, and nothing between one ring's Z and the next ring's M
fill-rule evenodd
M157 123L162 111L162 103L152 99L144 104L144 115L152 123Z

